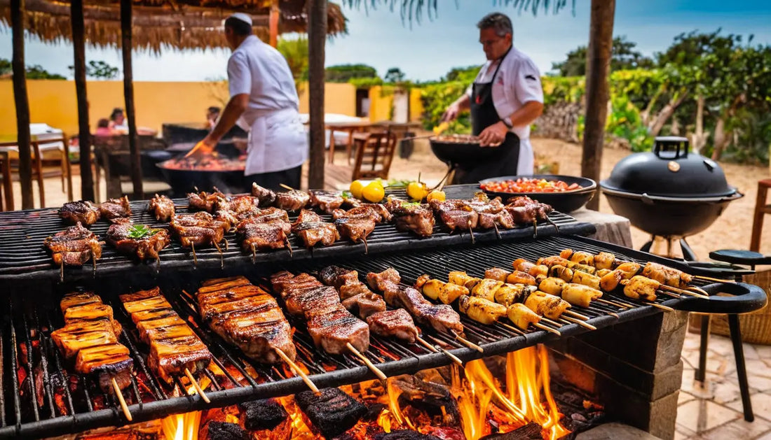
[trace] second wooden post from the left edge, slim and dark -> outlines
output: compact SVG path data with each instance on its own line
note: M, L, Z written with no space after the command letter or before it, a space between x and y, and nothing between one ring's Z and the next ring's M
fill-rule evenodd
M80 197L94 200L94 182L91 175L91 129L89 127L89 98L86 92L86 36L83 24L83 0L72 0L72 48L75 52L75 94L78 100L78 142L80 145Z

